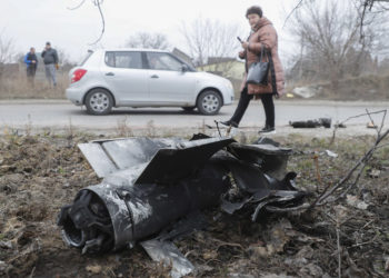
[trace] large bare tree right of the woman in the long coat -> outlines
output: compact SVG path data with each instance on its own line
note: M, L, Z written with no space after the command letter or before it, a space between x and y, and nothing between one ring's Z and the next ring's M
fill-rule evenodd
M290 22L291 32L301 44L297 57L300 75L329 79L335 90L346 73L358 76L362 67L372 67L371 53L386 36L379 24L382 18L368 14L368 32L360 40L360 13L351 7L336 0L325 6L309 2L295 12Z

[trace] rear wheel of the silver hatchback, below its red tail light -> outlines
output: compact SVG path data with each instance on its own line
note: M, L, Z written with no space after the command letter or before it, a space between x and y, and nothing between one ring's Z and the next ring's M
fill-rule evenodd
M108 115L113 106L112 95L106 89L93 89L86 98L87 111L90 115Z

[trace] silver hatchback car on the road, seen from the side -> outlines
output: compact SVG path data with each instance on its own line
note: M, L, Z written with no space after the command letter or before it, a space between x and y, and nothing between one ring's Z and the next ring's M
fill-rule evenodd
M91 115L108 115L112 107L182 107L216 115L233 101L228 79L196 71L161 50L97 50L69 78L67 98Z

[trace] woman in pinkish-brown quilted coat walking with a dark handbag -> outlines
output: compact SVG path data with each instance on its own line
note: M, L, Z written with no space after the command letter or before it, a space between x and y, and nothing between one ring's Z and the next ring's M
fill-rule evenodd
M276 132L275 128L275 103L273 97L283 93L285 78L281 61L278 57L278 37L272 23L262 16L262 9L258 6L250 7L246 12L246 18L251 27L251 33L247 41L242 41L243 50L239 57L246 60L246 73L241 85L241 95L238 107L227 121L221 121L225 126L238 127L247 107L252 98L260 98L263 105L266 122L259 133ZM270 61L267 85L247 83L247 72L253 62L259 60L261 48L265 47L267 53L263 61ZM272 62L271 62L272 60Z

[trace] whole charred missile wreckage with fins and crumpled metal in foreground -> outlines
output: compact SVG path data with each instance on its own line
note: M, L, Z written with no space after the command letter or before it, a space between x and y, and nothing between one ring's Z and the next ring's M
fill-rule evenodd
M171 240L201 228L193 217L200 210L220 205L228 214L249 211L256 221L306 196L295 186L296 173L286 173L291 149L269 139L241 145L196 135L99 140L79 148L103 180L61 208L63 240L82 254L140 242L152 259L170 261L173 277L194 269Z

